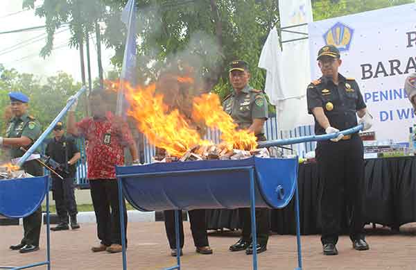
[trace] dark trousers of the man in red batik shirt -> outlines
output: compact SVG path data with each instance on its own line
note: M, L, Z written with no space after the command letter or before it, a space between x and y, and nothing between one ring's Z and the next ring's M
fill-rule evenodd
M89 181L89 187L94 212L96 214L98 239L105 246L121 244L119 189L117 187L117 181L115 179L94 179ZM123 201L123 205L124 228L125 235L127 235L125 201Z

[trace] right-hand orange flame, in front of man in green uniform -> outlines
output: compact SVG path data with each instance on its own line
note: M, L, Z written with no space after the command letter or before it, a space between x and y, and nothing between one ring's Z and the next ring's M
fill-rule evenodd
M228 149L253 150L257 147L254 133L249 130L238 130L232 117L224 112L216 94L202 94L193 99L192 118L205 121L209 128L218 128L221 139Z

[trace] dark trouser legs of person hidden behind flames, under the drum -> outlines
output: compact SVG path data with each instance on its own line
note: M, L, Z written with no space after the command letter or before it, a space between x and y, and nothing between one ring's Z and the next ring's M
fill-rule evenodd
M191 223L191 232L193 243L197 247L209 246L207 235L207 223L205 221L205 210L191 210L188 211L189 223ZM166 228L166 235L168 237L169 246L176 248L175 237L175 211L164 211L164 222ZM180 248L184 246L184 227L182 224L182 211L179 212L179 238Z

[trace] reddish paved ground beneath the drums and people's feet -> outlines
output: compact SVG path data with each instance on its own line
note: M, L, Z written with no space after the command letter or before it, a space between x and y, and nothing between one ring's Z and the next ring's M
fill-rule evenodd
M211 233L209 242L214 255L195 253L189 223L185 223L185 246L182 269L251 269L252 258L243 252L230 253L228 246L238 239L234 232L217 235ZM16 244L21 237L21 226L0 227L0 265L22 265L43 260L45 255L45 226L42 231L41 250L36 253L19 254L8 246ZM168 246L163 222L129 223L128 269L162 269L175 263L168 256ZM416 239L413 235L392 235L377 230L367 236L370 251L354 251L346 236L338 243L338 256L324 256L319 235L302 236L304 269L361 269L361 270L416 270ZM121 269L121 253L92 253L90 246L96 244L95 226L84 224L81 230L51 232L51 269ZM296 237L272 235L268 251L259 255L259 269L295 269ZM35 269L46 269L37 267Z

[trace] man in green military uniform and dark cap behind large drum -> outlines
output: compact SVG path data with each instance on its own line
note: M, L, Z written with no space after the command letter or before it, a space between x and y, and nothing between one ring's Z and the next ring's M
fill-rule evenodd
M239 128L252 131L258 141L265 141L263 126L268 119L268 107L266 97L260 90L255 90L248 81L250 71L248 63L242 60L231 62L229 69L229 81L233 87L223 101L223 110L231 115ZM251 215L250 208L239 209L239 216L243 223L242 237L236 244L229 247L230 251L243 251L246 254L253 253L251 237ZM257 253L267 250L269 236L269 211L267 208L256 208L257 226Z

